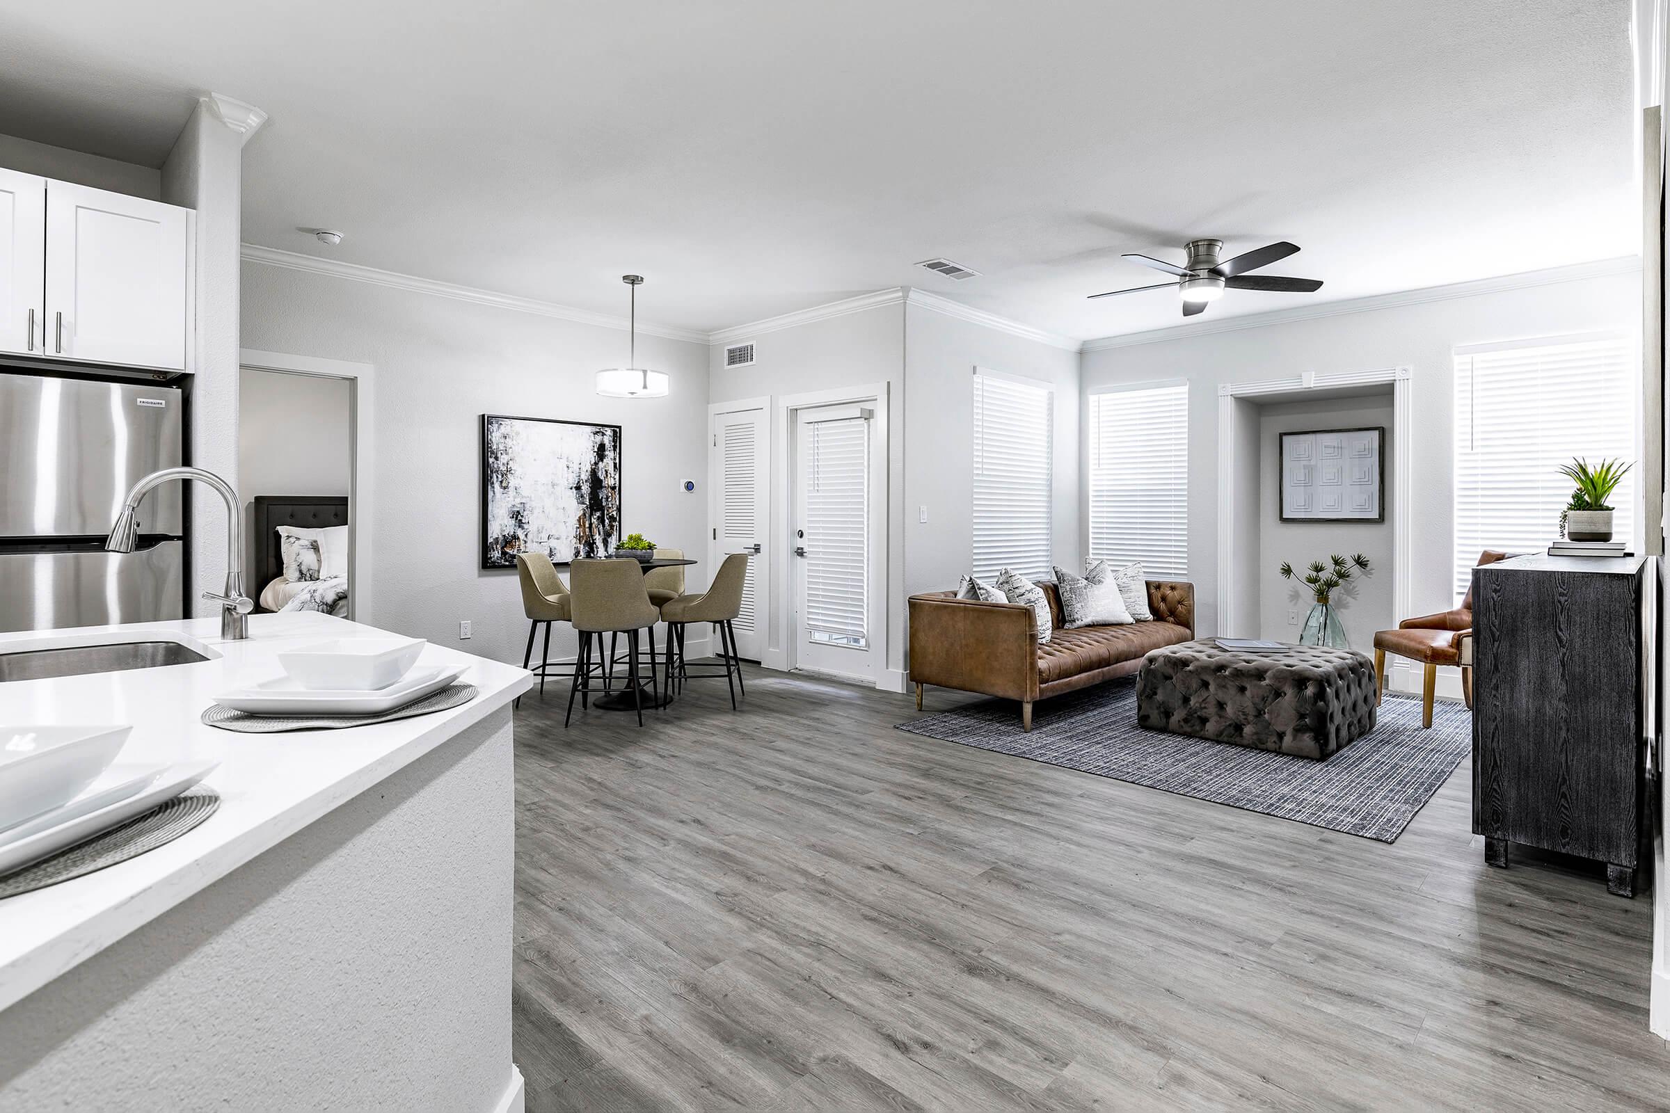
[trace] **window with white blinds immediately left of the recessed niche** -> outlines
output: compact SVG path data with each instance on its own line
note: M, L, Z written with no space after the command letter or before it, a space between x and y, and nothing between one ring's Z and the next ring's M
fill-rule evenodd
M1187 576L1187 384L1091 395L1091 556Z

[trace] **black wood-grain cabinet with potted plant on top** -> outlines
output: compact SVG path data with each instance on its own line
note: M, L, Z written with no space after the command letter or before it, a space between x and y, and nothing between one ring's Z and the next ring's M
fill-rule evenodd
M1607 863L1635 896L1645 841L1642 557L1525 556L1473 569L1473 833Z

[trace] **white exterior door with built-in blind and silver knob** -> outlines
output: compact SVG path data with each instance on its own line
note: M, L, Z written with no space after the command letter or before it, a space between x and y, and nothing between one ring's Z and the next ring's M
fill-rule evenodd
M793 531L795 667L877 677L875 422L858 405L795 412Z

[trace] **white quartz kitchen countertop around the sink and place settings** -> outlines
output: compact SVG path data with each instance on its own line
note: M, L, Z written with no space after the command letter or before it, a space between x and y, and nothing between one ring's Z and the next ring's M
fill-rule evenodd
M329 637L389 637L326 614L256 614L245 641L220 621L0 634L0 652L110 641L180 641L209 661L0 682L0 724L132 724L119 761L214 759L220 808L202 826L125 863L0 899L0 1010L441 746L533 682L514 666L426 646L419 664L468 664L479 694L436 714L342 731L237 734L204 726L214 696L282 674L276 654Z

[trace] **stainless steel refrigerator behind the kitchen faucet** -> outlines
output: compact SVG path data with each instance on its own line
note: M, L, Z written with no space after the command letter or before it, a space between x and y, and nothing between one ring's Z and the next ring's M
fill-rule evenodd
M180 464L177 387L0 374L0 631L177 619L180 484L139 504L140 546L104 539L134 481Z

